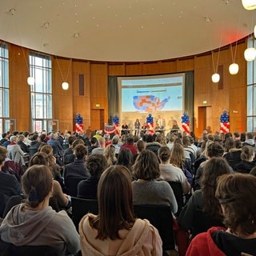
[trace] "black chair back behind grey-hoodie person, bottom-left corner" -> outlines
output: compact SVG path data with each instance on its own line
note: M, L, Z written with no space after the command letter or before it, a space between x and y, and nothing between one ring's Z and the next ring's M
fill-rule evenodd
M0 256L58 256L51 246L14 246L0 239Z

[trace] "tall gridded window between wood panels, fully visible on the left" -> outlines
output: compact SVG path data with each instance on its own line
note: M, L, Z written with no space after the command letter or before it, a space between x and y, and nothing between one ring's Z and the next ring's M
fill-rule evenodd
M52 119L51 58L30 53L30 76L35 82L30 86L31 131L47 130Z

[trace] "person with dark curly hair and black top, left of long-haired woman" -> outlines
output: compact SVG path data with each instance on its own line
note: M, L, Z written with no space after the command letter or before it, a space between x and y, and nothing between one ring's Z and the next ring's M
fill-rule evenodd
M78 183L78 198L97 199L98 181L106 170L106 158L102 154L92 154L86 159L90 177Z

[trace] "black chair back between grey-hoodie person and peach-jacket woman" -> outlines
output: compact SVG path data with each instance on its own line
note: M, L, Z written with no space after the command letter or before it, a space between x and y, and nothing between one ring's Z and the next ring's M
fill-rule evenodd
M71 198L72 204L72 220L74 226L78 230L78 224L82 217L89 212L91 214L98 214L98 200L97 199L84 199L84 198Z

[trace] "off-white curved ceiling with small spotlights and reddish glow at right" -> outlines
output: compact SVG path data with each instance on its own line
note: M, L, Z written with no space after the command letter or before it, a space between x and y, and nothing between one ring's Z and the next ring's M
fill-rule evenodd
M0 39L66 58L157 61L244 38L255 14L241 0L0 0Z

